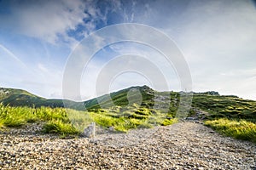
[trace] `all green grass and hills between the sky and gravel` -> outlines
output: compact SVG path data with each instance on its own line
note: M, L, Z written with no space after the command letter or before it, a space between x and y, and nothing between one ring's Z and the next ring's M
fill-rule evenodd
M21 127L26 123L43 122L44 133L65 136L83 132L90 122L121 132L177 122L175 116L181 93L157 92L143 86L111 93L113 102L108 97L103 95L84 102L65 100L65 106L73 108L65 109L61 99L43 99L24 90L0 88L0 103L3 103L0 105L0 127ZM137 99L142 99L141 105L137 105ZM101 105L98 101L101 101ZM184 105L184 108L189 106ZM191 106L189 116L205 119L207 126L236 139L255 141L256 101L212 91L194 93Z

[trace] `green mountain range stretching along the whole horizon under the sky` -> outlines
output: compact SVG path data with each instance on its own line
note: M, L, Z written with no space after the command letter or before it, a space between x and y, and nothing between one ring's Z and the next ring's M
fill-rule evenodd
M0 88L0 103L11 106L64 107L64 102L67 108L80 111L84 111L85 108L89 111L101 108L111 110L114 105L126 107L137 103L138 105L141 104L141 108L167 112L168 115L175 116L177 106L180 103L180 96L183 93L157 92L148 86L135 86L84 102L74 102L71 100L63 101L62 99L44 99L21 89ZM241 99L234 95L219 95L218 92L213 91L193 93L189 116L243 118L252 119L254 122L256 120L256 101Z

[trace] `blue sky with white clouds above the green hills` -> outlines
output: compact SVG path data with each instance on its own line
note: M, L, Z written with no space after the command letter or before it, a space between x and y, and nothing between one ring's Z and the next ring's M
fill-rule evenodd
M0 87L60 99L65 71L79 67L73 64L73 70L68 70L70 59L79 52L85 57L91 46L98 50L82 65L79 99L104 94L97 91L103 86L109 92L143 84L157 90L183 90L177 69L182 65L166 61L164 54L146 43L124 40L101 46L106 35L84 43L106 26L125 23L154 28L176 44L189 67L191 90L256 99L256 3L249 0L0 0ZM116 31L110 34L126 33ZM166 46L153 33L140 35ZM122 71L127 65L132 69ZM154 86L161 82L154 78L161 77L157 72L164 77L165 87ZM110 79L99 82L102 77Z

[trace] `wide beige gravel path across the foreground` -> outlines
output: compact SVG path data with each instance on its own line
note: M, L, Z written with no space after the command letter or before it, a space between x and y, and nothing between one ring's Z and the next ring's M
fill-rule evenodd
M195 122L95 139L58 139L34 130L0 133L0 169L256 169L256 144Z

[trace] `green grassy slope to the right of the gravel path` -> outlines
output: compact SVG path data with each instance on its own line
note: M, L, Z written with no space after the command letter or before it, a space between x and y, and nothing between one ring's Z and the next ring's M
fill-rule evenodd
M195 94L193 107L207 111L205 124L218 133L256 143L256 102L236 96Z

